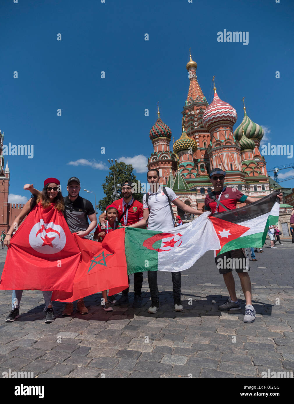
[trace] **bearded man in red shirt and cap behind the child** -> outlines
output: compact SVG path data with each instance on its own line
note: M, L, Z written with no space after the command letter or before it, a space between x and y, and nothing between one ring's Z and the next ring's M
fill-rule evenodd
M123 198L115 200L112 202L112 205L116 206L118 210L118 221L121 222L122 225L129 226L137 223L138 221L143 219L143 205L141 202L135 200L132 194L132 182L126 180L123 182L121 187L121 193ZM106 223L105 212L103 212L99 216L99 222ZM123 295L118 301L115 302L116 306L120 306L122 304L129 303L129 288L130 288L130 278L128 276L129 286L127 289L123 290ZM143 282L143 273L136 272L134 274L134 301L133 301L133 309L138 309L142 306L142 297L141 297L141 289ZM108 297L112 302L111 296Z

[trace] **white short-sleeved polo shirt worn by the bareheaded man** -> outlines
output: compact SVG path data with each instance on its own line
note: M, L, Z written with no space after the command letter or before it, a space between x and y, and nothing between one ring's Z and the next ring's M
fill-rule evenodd
M165 187L169 199L172 201L178 197L172 189ZM165 230L175 225L174 218L171 217L171 209L169 207L169 200L165 193L159 187L156 194L148 192L148 206L146 204L146 194L143 196L143 209L150 209L150 216L148 219L148 230Z

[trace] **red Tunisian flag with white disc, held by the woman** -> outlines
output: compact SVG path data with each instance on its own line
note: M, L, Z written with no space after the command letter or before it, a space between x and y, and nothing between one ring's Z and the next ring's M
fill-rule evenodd
M11 238L0 289L72 292L79 262L63 214L38 203Z

